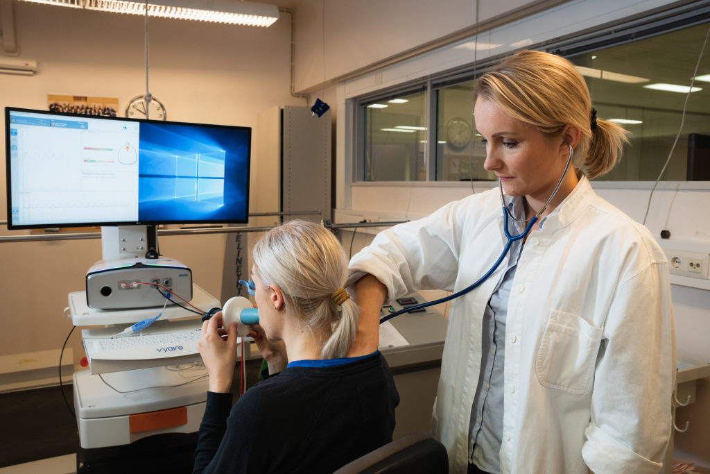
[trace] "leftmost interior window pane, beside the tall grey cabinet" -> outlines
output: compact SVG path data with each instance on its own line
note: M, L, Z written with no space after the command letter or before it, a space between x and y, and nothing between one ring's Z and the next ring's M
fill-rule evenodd
M365 181L426 181L427 95L365 104Z

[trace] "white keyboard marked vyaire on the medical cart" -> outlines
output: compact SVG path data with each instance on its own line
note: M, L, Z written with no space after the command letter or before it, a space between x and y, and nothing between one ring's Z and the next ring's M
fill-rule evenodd
M197 354L200 329L169 333L129 335L120 338L84 339L87 355L92 359L143 360L163 359Z

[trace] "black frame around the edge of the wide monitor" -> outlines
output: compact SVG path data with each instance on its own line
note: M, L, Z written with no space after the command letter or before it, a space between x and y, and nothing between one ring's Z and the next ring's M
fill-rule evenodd
M138 220L138 221L94 221L87 220L86 222L48 222L46 224L23 224L16 225L12 222L12 188L11 188L11 159L10 159L10 114L11 112L28 112L34 114L46 114L56 117L75 117L83 119L105 119L117 120L123 122L141 122L148 124L175 124L185 126L197 126L217 129L238 129L246 131L248 134L247 159L246 159L246 195L244 196L246 210L244 219L221 219L221 220ZM28 229L50 229L62 227L102 227L102 226L119 226L119 225L225 225L225 224L247 224L249 222L249 194L251 186L251 126L241 125L224 125L224 124L203 124L195 122L173 122L167 120L148 120L148 119L133 119L128 117L107 117L99 115L74 114L69 112L50 112L48 110L27 109L23 107L5 107L5 172L6 172L6 216L8 230L28 230Z

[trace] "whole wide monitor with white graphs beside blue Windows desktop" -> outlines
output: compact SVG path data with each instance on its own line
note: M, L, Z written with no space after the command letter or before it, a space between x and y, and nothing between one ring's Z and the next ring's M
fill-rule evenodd
M251 128L5 109L9 229L246 223Z

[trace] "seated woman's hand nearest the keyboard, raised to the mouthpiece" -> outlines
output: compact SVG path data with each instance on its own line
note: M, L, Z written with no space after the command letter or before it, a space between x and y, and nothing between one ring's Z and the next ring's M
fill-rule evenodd
M222 311L202 323L197 350L204 367L209 372L209 391L227 393L231 389L236 365L236 323L229 325L225 334L222 326Z

